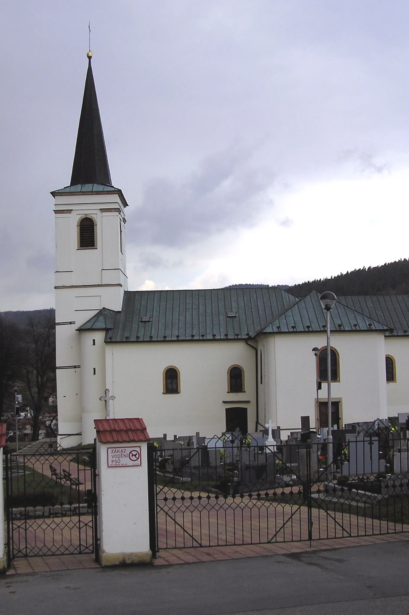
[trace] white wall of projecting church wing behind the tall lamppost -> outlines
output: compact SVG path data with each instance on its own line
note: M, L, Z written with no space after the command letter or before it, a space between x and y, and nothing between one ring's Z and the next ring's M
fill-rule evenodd
M273 339L275 338L275 339ZM281 429L300 429L300 416L310 416L315 426L315 357L312 348L326 345L326 336L281 334L266 338L267 370L275 359L275 378L267 385L269 418ZM342 400L342 422L366 421L386 416L383 333L333 333L331 346L340 355L340 382L332 383L333 399ZM268 373L268 377L273 371ZM274 391L275 389L275 391ZM327 398L327 387L319 399ZM275 397L275 399L274 399Z

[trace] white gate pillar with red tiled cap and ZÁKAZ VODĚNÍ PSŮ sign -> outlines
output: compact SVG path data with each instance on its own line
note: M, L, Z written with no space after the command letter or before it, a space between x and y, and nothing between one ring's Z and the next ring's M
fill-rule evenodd
M149 564L149 435L142 419L95 419L101 566Z

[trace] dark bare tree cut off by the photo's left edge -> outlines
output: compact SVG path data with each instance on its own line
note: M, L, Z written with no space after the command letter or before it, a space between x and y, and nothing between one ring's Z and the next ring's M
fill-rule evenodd
M21 328L0 314L0 421L4 400L21 378Z

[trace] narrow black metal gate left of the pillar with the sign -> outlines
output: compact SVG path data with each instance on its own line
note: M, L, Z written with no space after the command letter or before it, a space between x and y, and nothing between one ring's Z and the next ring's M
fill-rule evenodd
M95 553L95 449L6 451L8 564L16 557Z

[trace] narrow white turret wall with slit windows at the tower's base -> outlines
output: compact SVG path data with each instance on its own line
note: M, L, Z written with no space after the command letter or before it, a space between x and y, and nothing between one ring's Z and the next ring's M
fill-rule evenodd
M94 442L94 419L105 418L105 331L81 331L82 443ZM95 342L95 343L94 343Z

